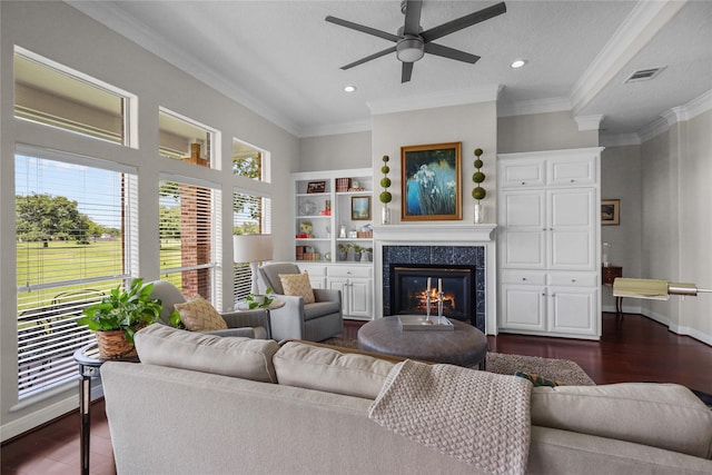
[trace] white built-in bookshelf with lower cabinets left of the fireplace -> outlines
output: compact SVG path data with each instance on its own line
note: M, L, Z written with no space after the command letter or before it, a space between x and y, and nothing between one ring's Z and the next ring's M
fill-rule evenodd
M370 168L325 170L293 174L295 261L309 274L313 288L342 291L344 317L370 319L374 316L373 234L364 228L373 225L377 208L373 201ZM350 186L343 187L343 179ZM322 186L323 184L323 186ZM354 186L356 184L356 186ZM369 217L354 208L364 198L370 201ZM303 234L308 222L310 234ZM340 231L344 228L345 237ZM356 256L354 249L370 253ZM342 249L348 249L346 254ZM356 260L360 257L360 260Z

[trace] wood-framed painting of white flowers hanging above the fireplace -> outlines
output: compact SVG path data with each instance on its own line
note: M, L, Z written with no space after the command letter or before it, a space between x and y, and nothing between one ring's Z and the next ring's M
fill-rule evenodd
M462 219L462 142L400 147L400 220Z

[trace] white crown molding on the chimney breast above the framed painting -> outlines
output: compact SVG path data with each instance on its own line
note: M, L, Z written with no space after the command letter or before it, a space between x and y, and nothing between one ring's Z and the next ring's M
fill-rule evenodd
M496 101L502 90L501 85L482 86L474 89L424 95L417 98L384 99L366 102L372 116L411 110L435 109L438 107L463 106Z

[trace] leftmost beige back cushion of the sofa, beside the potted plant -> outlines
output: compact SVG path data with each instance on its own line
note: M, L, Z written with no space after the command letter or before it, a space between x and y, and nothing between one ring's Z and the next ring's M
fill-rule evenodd
M271 339L219 337L155 324L137 331L136 350L141 363L276 383L273 356L279 349Z

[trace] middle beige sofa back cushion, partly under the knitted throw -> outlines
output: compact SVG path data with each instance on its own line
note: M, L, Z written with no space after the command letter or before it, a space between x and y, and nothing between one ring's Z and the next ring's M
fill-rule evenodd
M287 386L375 399L393 363L288 342L274 357L277 380Z

